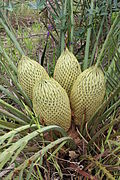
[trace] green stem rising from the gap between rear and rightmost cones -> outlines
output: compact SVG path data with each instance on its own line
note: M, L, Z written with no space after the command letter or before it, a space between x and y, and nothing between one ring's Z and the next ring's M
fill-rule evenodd
M89 57L89 47L90 47L90 36L91 36L91 24L93 20L93 8L94 8L94 0L91 0L91 16L89 18L89 25L90 27L87 30L87 39L86 39L86 47L85 47L85 58L84 58L84 64L83 64L83 69L86 69L88 67L88 57Z

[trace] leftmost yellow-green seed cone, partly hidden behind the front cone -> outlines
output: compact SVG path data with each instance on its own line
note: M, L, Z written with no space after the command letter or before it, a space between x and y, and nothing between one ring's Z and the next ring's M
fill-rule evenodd
M49 78L45 69L36 61L22 56L18 63L18 82L30 99L32 99L35 83L41 78Z

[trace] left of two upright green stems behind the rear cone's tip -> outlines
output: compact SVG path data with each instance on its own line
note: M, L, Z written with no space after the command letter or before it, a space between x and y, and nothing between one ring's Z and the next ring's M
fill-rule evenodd
M66 22L66 12L67 12L67 0L63 1L62 4L62 14L63 14L63 19L62 19L62 29L61 29L61 36L60 36L60 42L61 42L61 53L64 51L65 47L65 22Z

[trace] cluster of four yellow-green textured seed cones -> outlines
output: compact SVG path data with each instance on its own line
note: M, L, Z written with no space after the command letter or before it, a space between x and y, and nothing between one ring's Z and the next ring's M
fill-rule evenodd
M41 123L59 125L66 131L74 122L88 121L105 95L105 78L96 66L81 72L76 57L66 50L57 60L54 78L36 61L23 56L18 64L18 81L33 102Z

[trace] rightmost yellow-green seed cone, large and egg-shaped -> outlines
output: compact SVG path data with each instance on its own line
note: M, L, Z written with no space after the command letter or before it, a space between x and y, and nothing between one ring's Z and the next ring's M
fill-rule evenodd
M78 76L70 95L77 125L92 117L104 99L105 89L105 78L100 68L92 66Z

